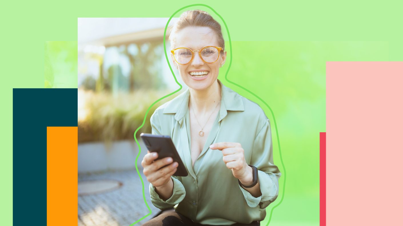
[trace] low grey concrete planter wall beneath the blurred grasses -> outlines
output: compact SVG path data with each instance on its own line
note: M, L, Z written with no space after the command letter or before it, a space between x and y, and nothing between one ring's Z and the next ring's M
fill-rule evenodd
M147 154L147 148L141 145L141 155L137 166L141 167L141 160ZM95 173L101 171L135 170L135 160L139 148L135 140L112 142L109 147L104 142L89 142L78 145L78 173Z

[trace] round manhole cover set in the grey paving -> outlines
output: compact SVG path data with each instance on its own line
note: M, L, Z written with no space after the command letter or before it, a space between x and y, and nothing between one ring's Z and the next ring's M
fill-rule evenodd
M78 183L78 195L92 195L106 191L113 191L122 185L122 182L115 180L80 181Z

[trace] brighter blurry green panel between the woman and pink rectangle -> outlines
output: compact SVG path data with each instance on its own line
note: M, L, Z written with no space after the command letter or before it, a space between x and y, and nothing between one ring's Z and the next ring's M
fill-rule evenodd
M270 105L287 166L284 200L274 210L270 225L319 225L319 132L326 131L326 61L388 61L388 48L388 42L364 41L232 42L228 78ZM227 86L259 103L243 89ZM259 104L271 120L270 111ZM276 133L272 136L276 140ZM273 146L278 164L276 142ZM268 222L269 208L261 225Z

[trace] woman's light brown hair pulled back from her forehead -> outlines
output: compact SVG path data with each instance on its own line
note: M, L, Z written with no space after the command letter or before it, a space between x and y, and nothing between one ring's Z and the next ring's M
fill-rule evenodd
M221 25L214 18L203 10L187 10L179 17L179 21L172 27L168 40L174 46L175 34L185 27L208 27L217 37L218 46L225 48L224 37L222 37Z

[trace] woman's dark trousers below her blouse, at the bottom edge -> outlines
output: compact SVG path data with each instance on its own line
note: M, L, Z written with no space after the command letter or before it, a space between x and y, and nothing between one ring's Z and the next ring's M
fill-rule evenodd
M241 224L241 223L235 223L231 225L256 225L259 226L260 223L258 221L254 221L251 224ZM183 216L182 214L179 214L178 212L164 212L155 218L145 222L141 226L212 226L208 224L198 224L193 222L191 219Z

